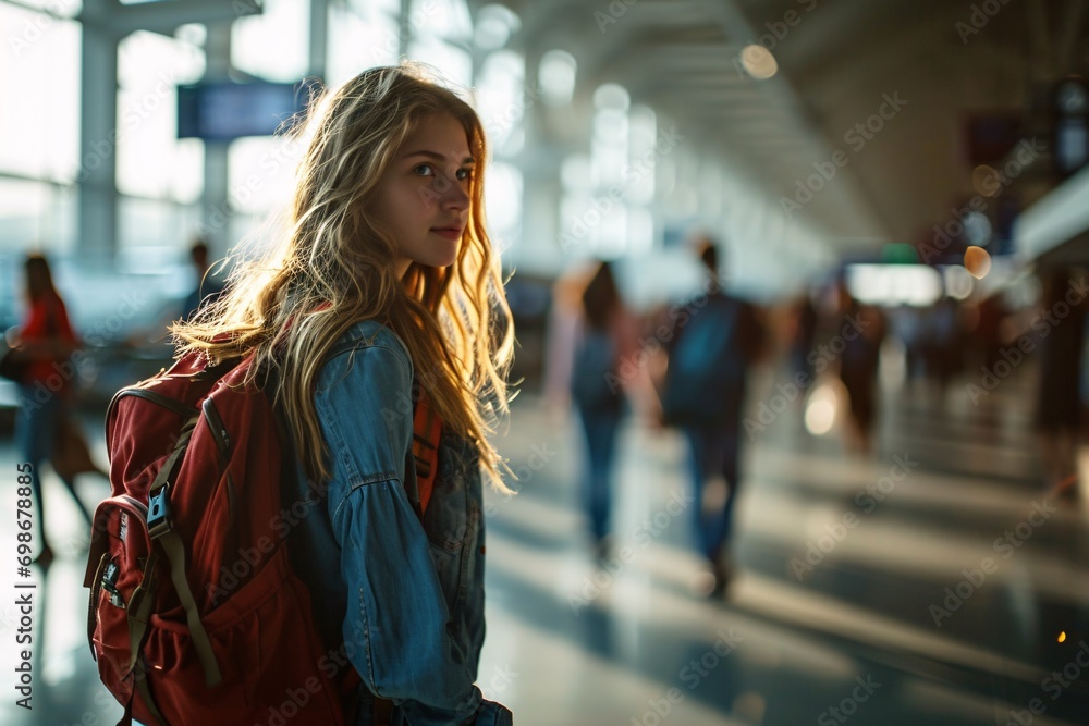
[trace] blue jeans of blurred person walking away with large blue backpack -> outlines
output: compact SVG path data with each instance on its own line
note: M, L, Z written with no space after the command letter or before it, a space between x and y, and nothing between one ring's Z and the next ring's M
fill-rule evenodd
M703 556L714 561L719 557L722 545L730 540L734 504L741 489L741 431L738 427L726 423L717 427L688 426L684 433L688 440L688 476L696 500L693 527L697 545ZM715 473L721 473L726 480L726 500L721 508L705 512L703 485Z

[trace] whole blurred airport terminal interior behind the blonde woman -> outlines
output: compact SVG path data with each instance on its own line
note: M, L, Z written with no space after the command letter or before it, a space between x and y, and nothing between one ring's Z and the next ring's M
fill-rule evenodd
M90 459L42 465L23 569L35 392L0 379L0 723L122 717L84 587L110 401L274 244L310 99L407 59L480 119L516 339L485 698L519 726L1089 724L1087 5L0 0L0 354L44 255ZM602 475L603 271L632 344ZM738 466L700 476L671 394L720 287Z

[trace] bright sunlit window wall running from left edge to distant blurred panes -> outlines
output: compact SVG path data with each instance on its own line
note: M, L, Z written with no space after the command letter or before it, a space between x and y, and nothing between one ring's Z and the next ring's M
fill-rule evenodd
M17 39L15 63L0 65L0 94L20 99L19 113L0 116L0 135L19 139L0 145L0 253L33 242L72 255L78 244L76 180L83 170L82 28L70 19L79 3L40 0L41 12L28 4L34 3L0 0L0 23L15 28L12 37ZM527 130L542 113L556 113L571 125L565 114L588 101L576 98L575 59L549 51L528 73L525 56L510 47L521 21L499 4L485 5L475 15L465 0L340 0L327 7L323 69L317 70L323 70L328 85L395 63L405 52L465 90L490 144L491 164L485 171L489 225L505 250L504 260L516 266L523 245L529 244L523 242L524 197L536 193L536 187L527 188ZM229 48L236 81L293 83L315 72L309 67L313 30L310 0L266 0L260 15L234 20L229 42L217 48ZM117 165L117 259L122 267L171 256L184 266L187 245L201 232L219 237L225 249L290 198L298 144L252 137L209 152L201 140L176 137L175 87L206 77L209 52L223 52L209 50L209 42L208 28L192 23L171 35L137 30L119 44L115 146L112 139L99 141L95 161L100 157ZM219 42L215 34L212 42ZM588 144L584 150L563 139L556 147L566 158L562 168L535 177L534 184L553 187L548 193L552 227L561 230L559 239L563 232L585 230L584 253L615 257L651 249L661 236L652 211L656 179L666 162L639 160L653 156L654 111L632 104L623 88L605 85L594 95L587 126L578 141ZM88 143L94 147L95 141ZM221 180L224 173L225 201L215 202L205 175ZM222 194L223 184L210 188ZM538 242L560 245L555 237L533 244ZM559 255L556 249L551 259Z

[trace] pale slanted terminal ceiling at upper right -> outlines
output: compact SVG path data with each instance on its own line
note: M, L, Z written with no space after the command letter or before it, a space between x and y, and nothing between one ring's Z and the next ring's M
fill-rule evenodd
M1020 109L1030 131L1043 133L1045 89L1065 72L1089 69L1084 0L501 4L522 20L513 45L527 59L572 53L576 93L622 84L633 101L674 118L701 153L741 170L776 208L817 172L815 163L827 172L840 151L834 177L792 212L843 253L919 241L952 219L951 209L974 194L966 114ZM972 17L982 5L996 12ZM782 36L764 40L779 73L769 81L739 73L742 48L771 30ZM852 131L890 98L906 104L895 114L884 107L891 118L879 133L866 139ZM1038 193L1024 182L1028 201Z

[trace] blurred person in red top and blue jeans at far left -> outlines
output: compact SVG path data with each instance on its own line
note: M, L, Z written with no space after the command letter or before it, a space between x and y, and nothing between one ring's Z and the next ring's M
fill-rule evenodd
M41 543L37 562L48 566L53 558L53 549L46 539L41 464L47 459L52 463L88 527L90 513L76 494L74 476L79 471L96 470L96 467L89 462L82 432L66 417L75 376L75 366L70 357L78 349L79 342L69 322L64 300L53 285L48 260L41 255L28 255L25 273L26 318L10 342L13 355L22 364L15 442L20 463L32 467L32 485L38 509L35 522Z

